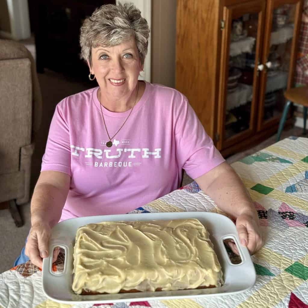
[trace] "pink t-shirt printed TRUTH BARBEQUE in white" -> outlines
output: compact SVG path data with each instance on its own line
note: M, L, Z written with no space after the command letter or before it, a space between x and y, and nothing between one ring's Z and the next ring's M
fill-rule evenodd
M177 189L182 168L195 179L225 161L187 98L151 83L108 148L97 91L63 99L51 121L42 171L71 176L60 221L127 213ZM102 109L113 136L130 110Z

